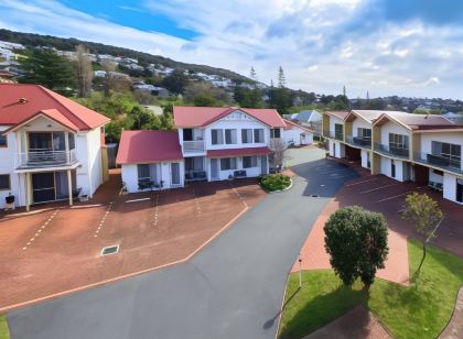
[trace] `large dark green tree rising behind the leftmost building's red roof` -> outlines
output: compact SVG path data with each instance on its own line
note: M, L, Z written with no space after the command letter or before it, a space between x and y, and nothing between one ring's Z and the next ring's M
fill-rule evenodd
M76 87L76 65L51 48L33 48L20 59L26 74L20 78L24 84L40 84L53 90Z

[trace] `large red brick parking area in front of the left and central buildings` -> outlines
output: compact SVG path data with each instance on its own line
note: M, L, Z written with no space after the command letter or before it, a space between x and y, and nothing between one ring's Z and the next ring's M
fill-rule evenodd
M0 216L0 308L183 260L265 196L256 179L123 196L120 187L111 171L90 201ZM115 244L118 254L100 255Z

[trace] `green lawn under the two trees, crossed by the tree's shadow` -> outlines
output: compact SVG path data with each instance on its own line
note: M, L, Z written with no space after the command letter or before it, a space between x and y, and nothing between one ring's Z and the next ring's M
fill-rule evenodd
M409 240L410 275L421 259L420 243ZM298 273L290 276L286 306L281 316L280 338L302 338L358 304L379 318L396 338L437 338L446 326L463 285L463 259L429 248L416 283L402 286L377 278L369 295L360 283L344 287L332 270L303 273L298 291Z

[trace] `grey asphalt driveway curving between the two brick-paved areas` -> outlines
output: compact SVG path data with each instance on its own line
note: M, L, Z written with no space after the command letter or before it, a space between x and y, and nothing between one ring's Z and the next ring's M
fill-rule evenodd
M313 162L298 164L300 154ZM273 338L299 249L330 197L356 176L323 154L291 151L304 177L189 263L13 311L12 338Z

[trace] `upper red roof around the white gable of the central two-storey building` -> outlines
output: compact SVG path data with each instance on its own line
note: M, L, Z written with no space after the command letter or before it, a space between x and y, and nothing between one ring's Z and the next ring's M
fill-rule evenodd
M195 128L213 123L237 110L251 116L271 128L286 127L283 119L274 109L175 106L173 108L173 116L175 125L181 128Z

